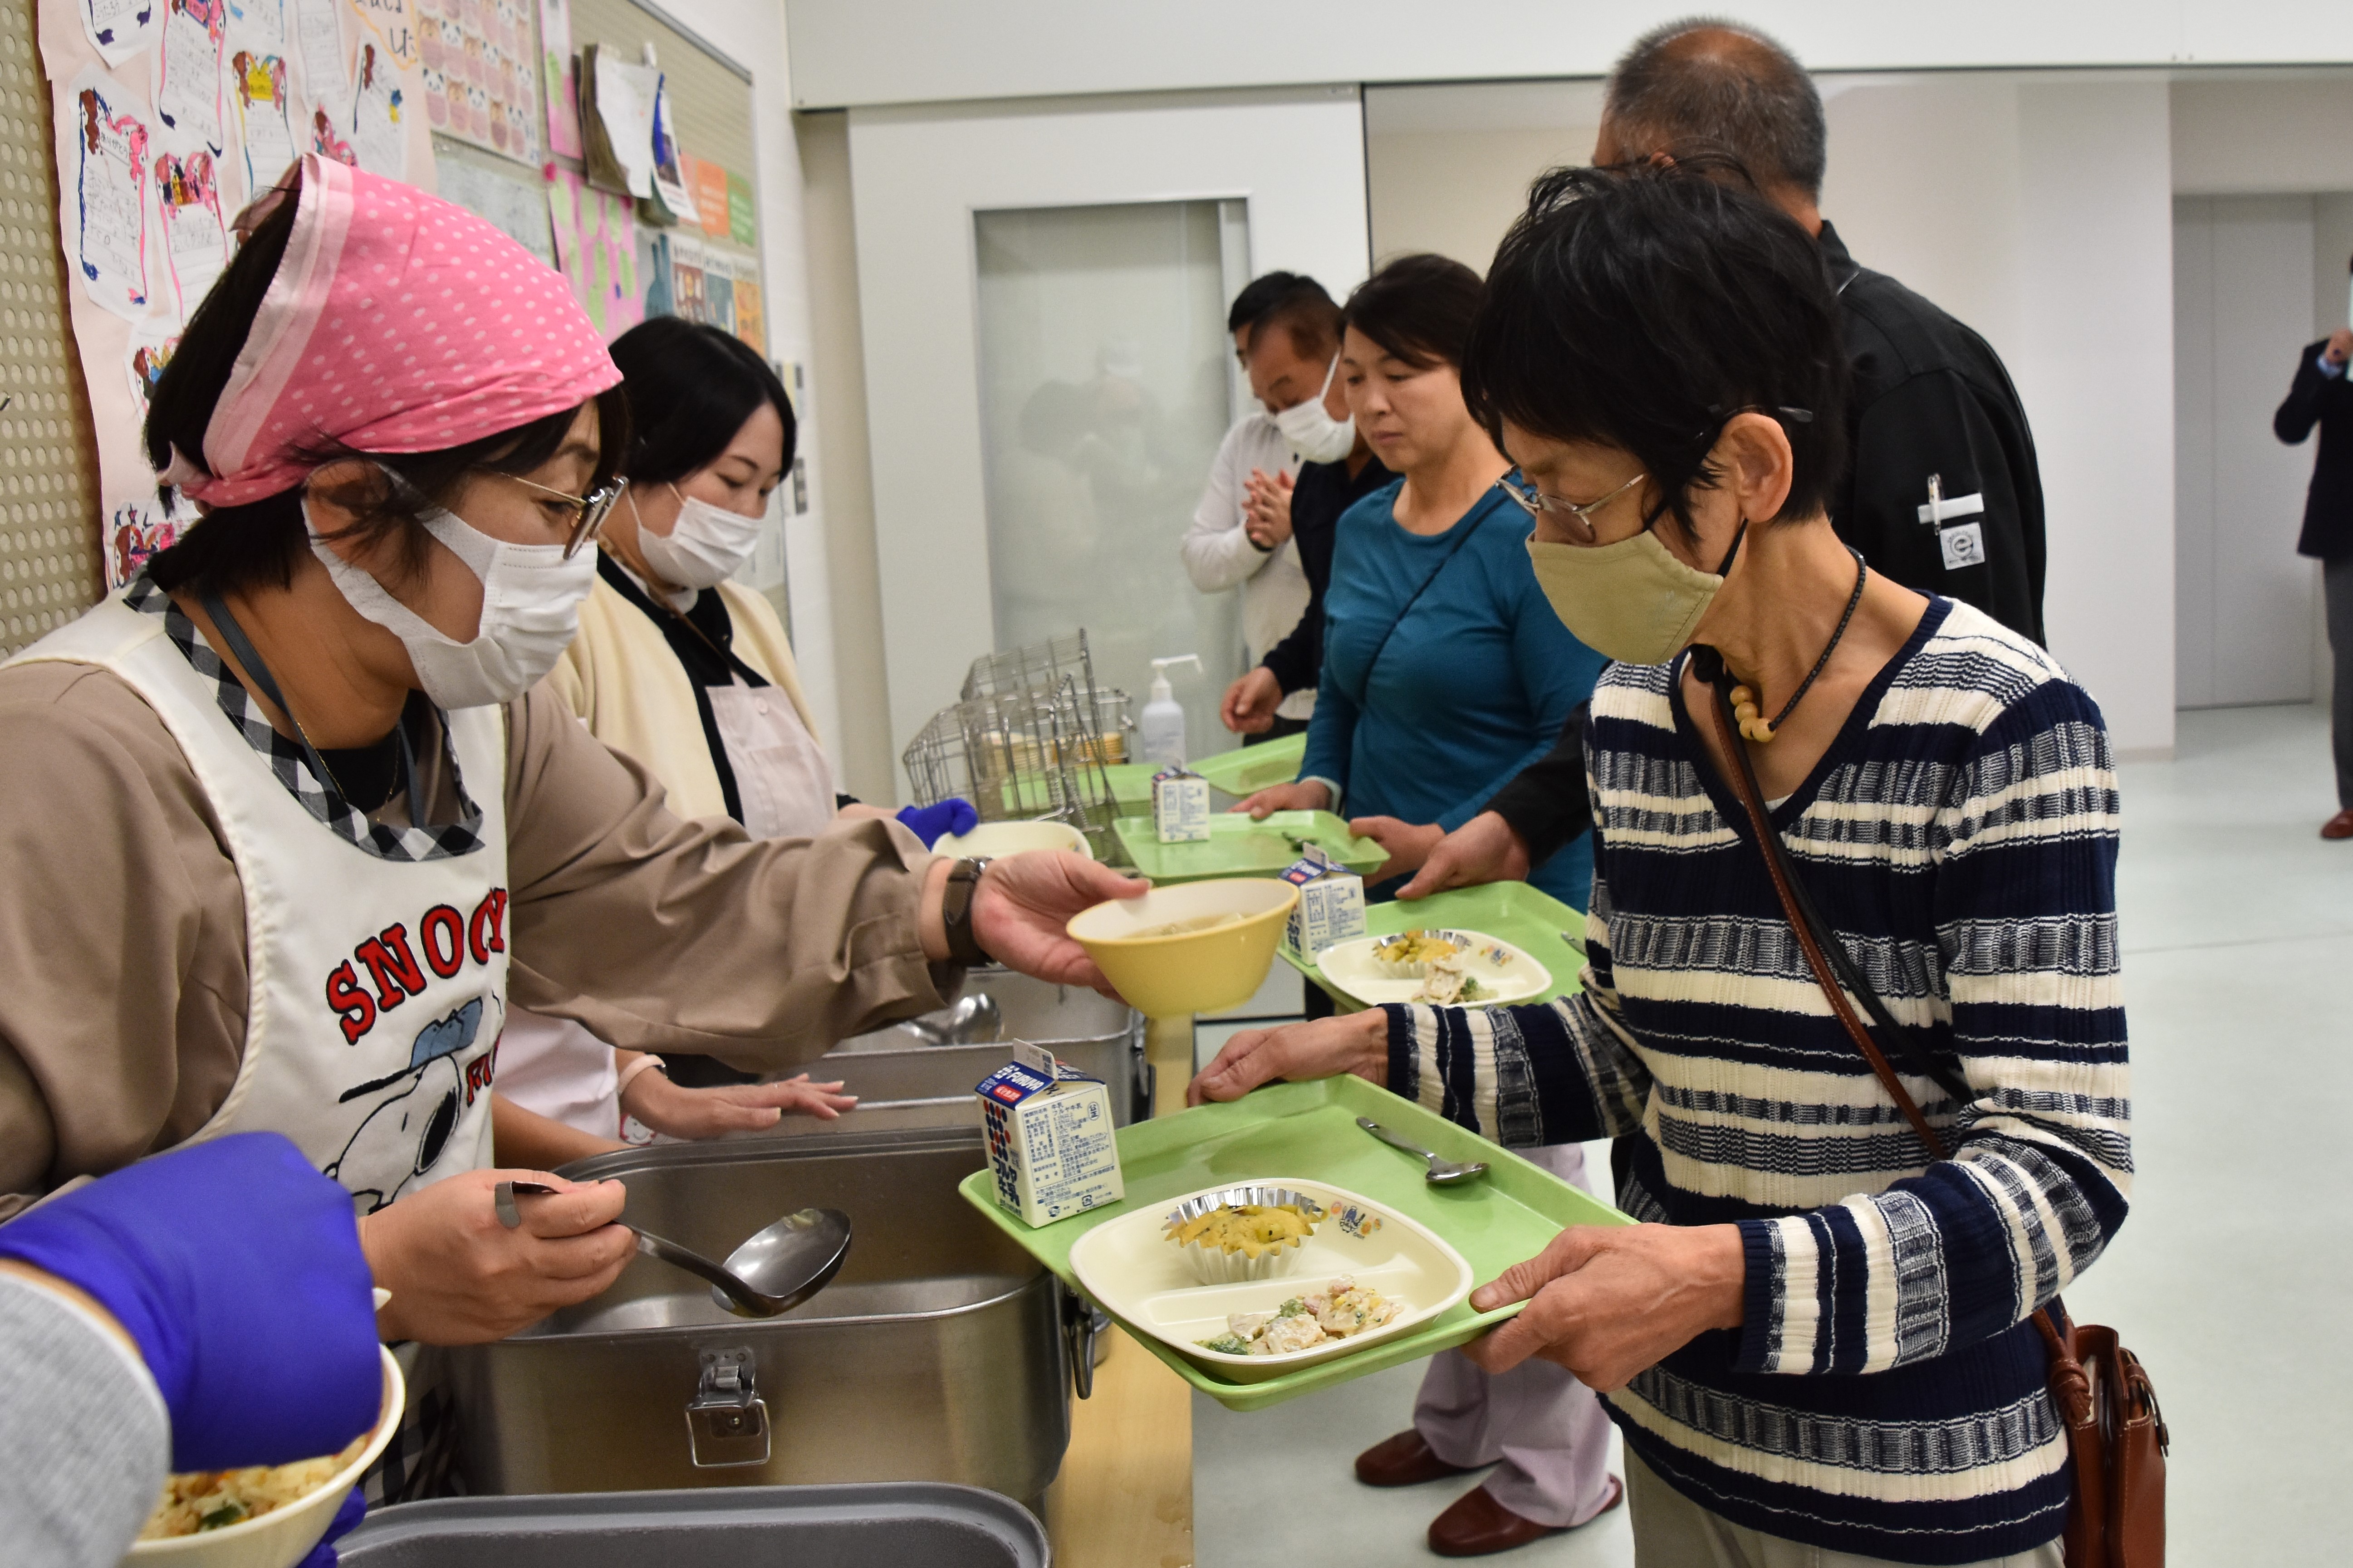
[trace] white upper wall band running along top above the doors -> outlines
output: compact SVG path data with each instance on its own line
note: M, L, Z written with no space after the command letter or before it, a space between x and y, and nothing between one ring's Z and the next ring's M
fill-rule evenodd
M786 0L793 101L1602 75L1692 0ZM1817 71L2353 59L2337 0L1748 0Z

